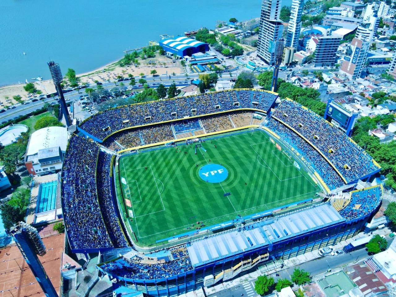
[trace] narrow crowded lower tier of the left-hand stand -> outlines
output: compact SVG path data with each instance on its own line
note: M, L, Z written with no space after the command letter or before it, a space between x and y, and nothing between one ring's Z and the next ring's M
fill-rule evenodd
M113 246L115 248L128 247L128 243L120 227L120 222L118 221L111 194L111 158L112 155L99 151L96 177L99 206Z

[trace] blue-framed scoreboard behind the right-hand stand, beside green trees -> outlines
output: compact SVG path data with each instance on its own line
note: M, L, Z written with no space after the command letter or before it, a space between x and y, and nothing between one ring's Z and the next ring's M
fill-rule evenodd
M350 112L334 101L329 101L327 103L326 112L324 114L324 118L328 122L342 129L348 136L352 133L353 126L357 119L356 116L356 113Z

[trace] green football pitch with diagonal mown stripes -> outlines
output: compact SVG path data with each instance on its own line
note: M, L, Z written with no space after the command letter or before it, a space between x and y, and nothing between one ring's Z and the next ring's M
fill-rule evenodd
M320 190L262 130L200 144L141 150L119 159L118 201L139 246L195 230L197 221L214 225L312 198ZM219 164L226 172L203 172L208 164ZM224 181L208 182L224 174Z

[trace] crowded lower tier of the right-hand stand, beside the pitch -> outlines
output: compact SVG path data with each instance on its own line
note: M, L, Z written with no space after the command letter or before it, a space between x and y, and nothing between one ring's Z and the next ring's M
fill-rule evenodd
M345 185L341 177L326 159L298 134L294 133L291 129L274 118L270 118L265 126L280 136L282 141L288 143L297 150L297 152L299 152L299 154L301 154L301 156L316 170L330 190Z

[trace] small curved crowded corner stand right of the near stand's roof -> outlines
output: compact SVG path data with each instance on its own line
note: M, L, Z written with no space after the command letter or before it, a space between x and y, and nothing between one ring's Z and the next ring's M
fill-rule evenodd
M350 202L339 211L347 220L357 219L371 213L381 202L381 185L350 192Z

